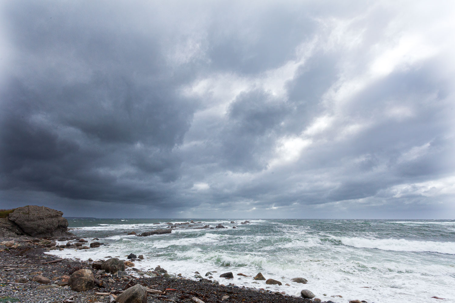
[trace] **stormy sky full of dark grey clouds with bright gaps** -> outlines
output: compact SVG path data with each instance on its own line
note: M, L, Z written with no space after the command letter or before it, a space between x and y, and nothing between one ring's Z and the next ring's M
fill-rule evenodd
M455 217L453 1L0 3L0 208Z

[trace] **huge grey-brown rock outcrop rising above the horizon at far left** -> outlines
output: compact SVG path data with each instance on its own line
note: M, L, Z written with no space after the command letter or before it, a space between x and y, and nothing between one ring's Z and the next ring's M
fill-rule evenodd
M40 238L73 237L74 234L67 231L68 221L62 215L61 211L44 206L24 206L14 209L8 214L8 220L1 221L1 225L12 225L9 230L14 230L17 235ZM5 231L5 227L0 229Z

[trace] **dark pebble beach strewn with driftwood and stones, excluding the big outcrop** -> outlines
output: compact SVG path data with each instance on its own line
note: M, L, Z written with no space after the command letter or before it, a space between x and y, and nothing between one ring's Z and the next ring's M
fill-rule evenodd
M49 241L51 239L24 236L0 238L0 243L3 243L0 246L0 302L320 302L316 298L238 287L229 282L233 281L232 273L227 273L226 278L219 278L219 281L209 279L210 276L201 276L200 281L194 281L171 275L159 266L143 273L128 267L134 266L133 261L140 262L141 259L134 255L125 260L58 259L45 254L50 249L46 247ZM126 293L129 288L131 290ZM125 294L121 297L123 292ZM131 293L133 297L143 297L131 298ZM126 295L129 297L124 300Z

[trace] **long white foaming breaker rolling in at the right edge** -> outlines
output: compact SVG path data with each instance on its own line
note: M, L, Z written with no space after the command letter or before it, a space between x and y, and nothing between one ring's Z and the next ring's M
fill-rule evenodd
M403 252L432 252L455 254L455 242L415 241L405 239L368 239L333 237L344 245L357 248L378 248Z

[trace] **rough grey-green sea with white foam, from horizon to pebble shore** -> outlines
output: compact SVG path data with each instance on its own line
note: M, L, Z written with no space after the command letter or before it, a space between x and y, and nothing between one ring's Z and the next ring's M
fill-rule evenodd
M77 228L73 233L99 238L109 246L50 253L81 259L143 254L145 259L136 262L136 268L161 265L169 273L186 277L195 271L202 276L217 271L213 277L221 283L219 274L232 271L234 279L228 282L239 286L269 287L293 295L306 288L322 300L340 303L354 299L426 303L435 302L433 296L455 303L455 220L249 220L251 224L193 220L202 223L178 226L172 234L136 237L126 233L185 221L70 218L70 227ZM206 224L228 228L192 228ZM283 285L236 275L258 272ZM295 277L306 278L308 283L290 281Z

